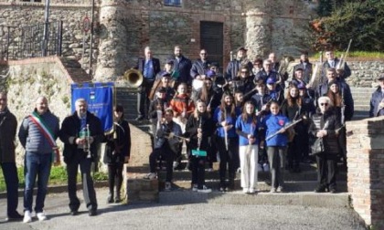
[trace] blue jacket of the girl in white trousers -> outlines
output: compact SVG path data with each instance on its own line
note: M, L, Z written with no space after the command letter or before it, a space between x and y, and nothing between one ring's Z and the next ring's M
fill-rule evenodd
M258 131L259 131L259 120L256 122L256 125L251 123L252 120L249 118L248 120L244 121L241 118L241 115L238 117L238 120L236 120L236 132L239 134L239 145L245 146L249 145L250 142L248 141L248 135L252 134L253 137L258 137ZM259 139L257 138L255 142L252 143L252 145L259 144Z

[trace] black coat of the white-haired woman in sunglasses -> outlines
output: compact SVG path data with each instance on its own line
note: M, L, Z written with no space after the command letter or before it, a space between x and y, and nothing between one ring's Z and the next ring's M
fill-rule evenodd
M327 123L326 127L324 127L325 123ZM337 119L334 108L329 108L324 114L317 110L316 113L312 115L309 126L310 143L313 144L315 142L318 131L325 129L327 131L327 135L323 137L325 154L338 154L340 148L337 136L340 131L336 132L336 130L340 127L340 120Z

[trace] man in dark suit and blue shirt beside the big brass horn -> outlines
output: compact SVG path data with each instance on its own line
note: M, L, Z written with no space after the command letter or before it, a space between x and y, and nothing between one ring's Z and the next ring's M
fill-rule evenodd
M144 48L144 57L139 57L136 69L141 71L144 77L143 84L137 93L138 117L136 120L144 120L144 118L147 118L145 116L148 116L150 102L148 97L154 86L156 74L160 72L160 61L159 59L152 57L150 47Z

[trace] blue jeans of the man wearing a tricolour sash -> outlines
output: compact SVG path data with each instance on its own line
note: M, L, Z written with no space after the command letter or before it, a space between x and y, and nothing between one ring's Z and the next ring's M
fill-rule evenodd
M37 197L35 212L41 213L46 199L52 155L27 152L24 164L26 187L24 189L24 211L32 212L33 188L37 178Z

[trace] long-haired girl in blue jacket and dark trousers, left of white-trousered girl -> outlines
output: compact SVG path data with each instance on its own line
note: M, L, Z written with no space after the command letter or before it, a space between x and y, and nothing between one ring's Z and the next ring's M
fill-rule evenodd
M217 144L219 149L220 192L235 188L235 172L239 164L239 137L236 134L235 123L240 110L236 110L233 96L225 92L220 106L215 110L213 120L217 124ZM226 183L226 173L229 173L229 184Z

